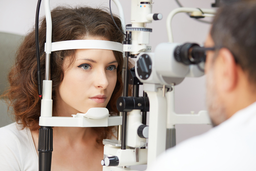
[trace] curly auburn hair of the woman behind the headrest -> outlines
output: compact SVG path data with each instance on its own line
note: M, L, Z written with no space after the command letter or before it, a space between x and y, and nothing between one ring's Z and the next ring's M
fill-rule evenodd
M52 42L63 40L86 39L88 36L100 36L110 41L122 42L123 34L118 31L111 15L104 9L89 7L66 8L57 7L51 12L52 16ZM122 29L121 21L113 16L117 26ZM46 18L42 19L39 27L40 68L45 74L45 42L46 42ZM52 52L51 55L51 80L53 109L55 108L56 91L63 80L63 59L72 56L75 60L76 50L63 50ZM113 51L118 62L117 82L112 97L106 106L111 115L118 113L116 101L122 94L122 67L123 56L121 52ZM13 108L13 114L18 124L29 127L32 131L39 129L40 99L37 92L37 61L35 46L35 30L28 33L20 45L15 59L15 65L8 75L10 88L5 97L10 100L9 106ZM54 111L54 110L53 110ZM113 126L94 127L99 138L109 138L113 135Z

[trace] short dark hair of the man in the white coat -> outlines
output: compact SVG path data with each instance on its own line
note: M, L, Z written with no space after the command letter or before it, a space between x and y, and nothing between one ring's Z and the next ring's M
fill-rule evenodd
M256 83L256 2L223 4L210 34L215 46L227 48L248 74L248 80Z

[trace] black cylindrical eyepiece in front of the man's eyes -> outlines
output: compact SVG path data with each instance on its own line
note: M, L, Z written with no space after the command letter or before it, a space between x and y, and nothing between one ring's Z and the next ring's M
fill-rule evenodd
M178 62L185 65L198 64L205 61L206 51L205 48L200 47L198 44L185 43L176 47L174 57Z

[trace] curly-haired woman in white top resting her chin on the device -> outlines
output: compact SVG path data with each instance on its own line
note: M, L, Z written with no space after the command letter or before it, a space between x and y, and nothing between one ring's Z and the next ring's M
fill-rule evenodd
M98 39L122 42L123 35L111 15L88 7L58 7L52 15L52 42ZM117 26L121 22L114 16ZM46 19L39 27L41 72L44 77ZM116 100L122 93L122 53L111 50L63 50L52 52L53 116L86 113L106 107L117 114ZM17 51L9 73L9 97L16 123L0 129L1 170L38 169L38 120L35 31ZM113 127L53 127L52 170L102 170L102 139L113 136ZM3 139L3 137L5 137Z

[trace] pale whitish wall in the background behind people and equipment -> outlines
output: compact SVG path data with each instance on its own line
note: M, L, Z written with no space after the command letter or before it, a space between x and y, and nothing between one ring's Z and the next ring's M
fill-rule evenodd
M119 0L124 9L126 24L130 24L131 1ZM185 7L211 8L214 0L180 0ZM58 5L88 5L92 7L108 7L108 0L51 0L51 7ZM0 31L26 34L35 23L37 1L35 0L0 0ZM153 28L151 33L151 45L153 52L161 42L167 42L166 17L170 11L178 8L174 0L156 0L153 5L154 13L162 13L163 19L148 24L147 27ZM118 14L115 4L112 2L113 13ZM44 15L44 1L42 1L40 16ZM189 18L186 14L177 14L172 22L173 35L175 42L197 42L203 44L208 34L210 25L197 22ZM185 78L176 86L176 112L189 113L206 110L205 106L205 77ZM209 125L177 125L177 143L188 137L201 134L210 129Z

